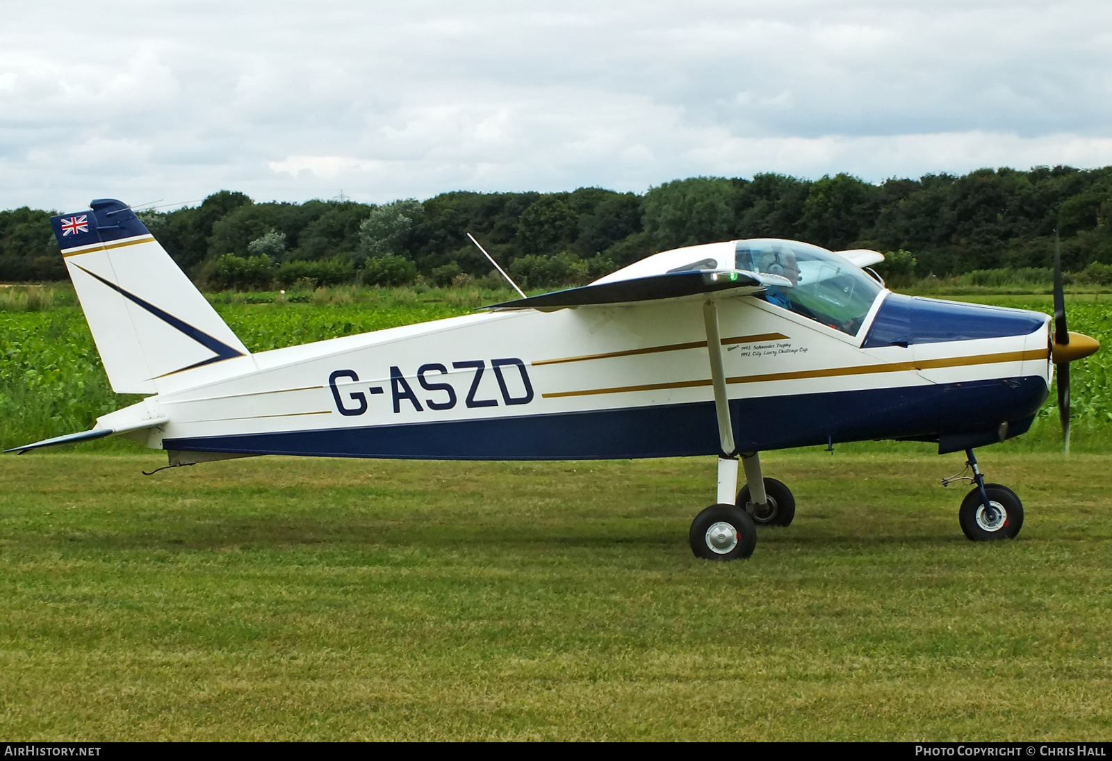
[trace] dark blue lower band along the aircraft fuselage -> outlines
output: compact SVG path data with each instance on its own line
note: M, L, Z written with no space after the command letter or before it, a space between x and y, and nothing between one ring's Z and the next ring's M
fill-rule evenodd
M931 438L1029 418L1037 376L796 394L729 403L742 452L827 441ZM166 438L166 449L413 459L624 459L715 454L713 402L317 431Z

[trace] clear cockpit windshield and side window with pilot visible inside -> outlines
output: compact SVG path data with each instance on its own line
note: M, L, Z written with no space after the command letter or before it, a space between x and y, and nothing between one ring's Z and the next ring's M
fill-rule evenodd
M764 298L785 309L857 335L881 286L860 267L825 248L794 240L739 240L736 268L780 275L792 286L772 286Z

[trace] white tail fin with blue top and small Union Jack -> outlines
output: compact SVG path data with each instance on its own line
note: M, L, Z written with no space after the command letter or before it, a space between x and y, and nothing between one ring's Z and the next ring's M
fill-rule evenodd
M153 394L167 375L248 354L135 211L90 207L50 221L112 391Z

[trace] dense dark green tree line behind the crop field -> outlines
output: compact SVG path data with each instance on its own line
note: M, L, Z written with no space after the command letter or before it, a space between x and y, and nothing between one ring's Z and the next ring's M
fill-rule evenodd
M66 279L51 211L0 211L0 281ZM644 195L445 192L426 201L257 204L221 190L199 206L139 211L203 287L436 285L490 275L475 235L525 287L584 283L659 250L732 238L806 240L833 250L891 253L900 277L1045 268L1053 237L1063 267L1112 265L1112 167L980 169L872 185L694 177Z

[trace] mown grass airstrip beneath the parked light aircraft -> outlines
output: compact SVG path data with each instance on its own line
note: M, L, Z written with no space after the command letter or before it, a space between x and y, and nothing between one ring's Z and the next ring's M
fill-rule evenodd
M0 458L9 740L1109 740L1112 456L768 453L798 501L697 561L713 458Z

